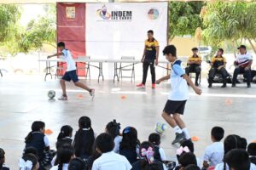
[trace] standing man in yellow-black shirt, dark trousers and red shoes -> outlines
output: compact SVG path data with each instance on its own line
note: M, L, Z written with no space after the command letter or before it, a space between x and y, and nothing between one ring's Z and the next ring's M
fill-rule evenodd
M148 39L145 41L145 47L143 52L143 82L137 84L137 88L145 88L145 83L148 76L148 67L150 66L151 78L152 78L152 88L155 88L155 65L158 65L159 56L159 43L154 39L154 31L148 31Z

